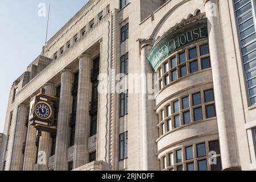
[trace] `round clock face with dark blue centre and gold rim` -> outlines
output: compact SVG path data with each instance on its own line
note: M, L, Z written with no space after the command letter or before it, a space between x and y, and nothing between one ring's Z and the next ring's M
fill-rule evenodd
M49 119L52 115L52 109L46 102L38 102L35 105L35 113L40 119Z

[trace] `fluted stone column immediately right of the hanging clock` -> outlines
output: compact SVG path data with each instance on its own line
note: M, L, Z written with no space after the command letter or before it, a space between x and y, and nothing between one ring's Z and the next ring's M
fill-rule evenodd
M55 150L55 171L67 171L68 169L67 150L69 138L69 114L72 109L72 82L73 72L70 69L64 69L61 71L61 91Z

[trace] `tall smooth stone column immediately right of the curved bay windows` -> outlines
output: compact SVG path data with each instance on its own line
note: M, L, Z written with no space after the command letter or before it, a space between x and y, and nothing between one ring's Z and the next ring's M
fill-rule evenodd
M237 159L236 139L233 129L234 123L232 122L230 109L226 63L220 30L220 15L218 13L219 1L204 0L204 3L208 18L209 49L212 63L222 169L241 169Z

